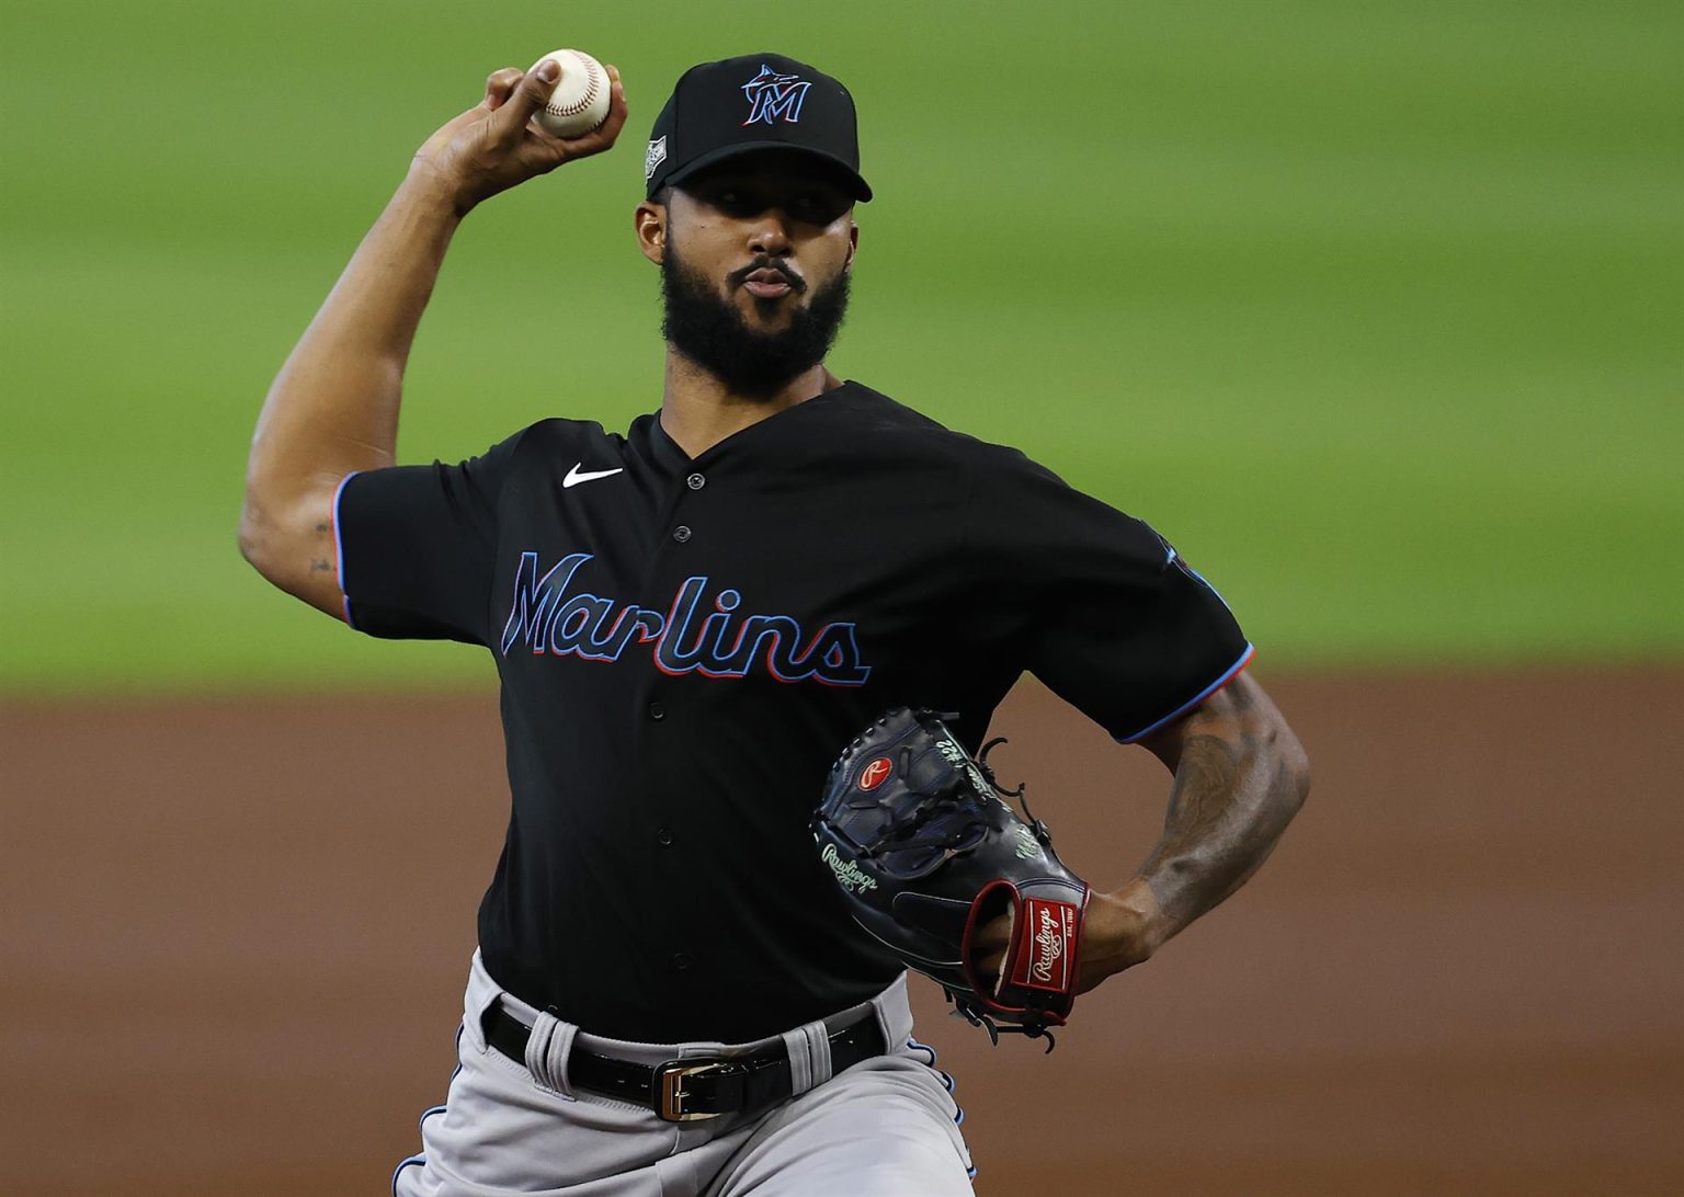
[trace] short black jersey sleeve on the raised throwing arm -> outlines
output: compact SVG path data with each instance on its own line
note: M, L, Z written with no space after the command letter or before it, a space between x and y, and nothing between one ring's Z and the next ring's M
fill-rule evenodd
M487 643L497 503L519 441L460 465L367 470L338 485L345 623L391 640Z

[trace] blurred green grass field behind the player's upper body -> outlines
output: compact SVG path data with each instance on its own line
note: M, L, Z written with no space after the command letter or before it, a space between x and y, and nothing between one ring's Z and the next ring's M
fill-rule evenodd
M643 135L781 49L859 106L832 365L1170 535L1271 665L1684 655L1676 3L88 7L0 35L0 689L456 684L234 547L269 379L487 72L625 72L475 212L404 460L658 404ZM1671 463L1671 465L1669 465Z

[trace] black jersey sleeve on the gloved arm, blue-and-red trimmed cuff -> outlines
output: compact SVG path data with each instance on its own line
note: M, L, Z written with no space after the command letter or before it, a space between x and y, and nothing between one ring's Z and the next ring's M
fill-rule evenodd
M972 485L985 635L1132 742L1191 712L1253 648L1221 594L1147 524L1015 451Z

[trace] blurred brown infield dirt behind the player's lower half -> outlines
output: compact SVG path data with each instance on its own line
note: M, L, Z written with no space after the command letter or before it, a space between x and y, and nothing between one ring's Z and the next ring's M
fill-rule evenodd
M1260 677L1315 790L1228 906L1051 1057L914 983L977 1192L1684 1192L1684 670ZM386 1192L451 1071L495 700L0 727L0 1189ZM1066 860L1122 880L1160 766L1032 684L995 732Z

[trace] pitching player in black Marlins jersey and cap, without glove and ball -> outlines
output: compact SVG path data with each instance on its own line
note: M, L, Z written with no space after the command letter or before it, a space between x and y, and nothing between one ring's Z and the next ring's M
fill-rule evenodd
M839 749L914 704L975 751L1032 670L1162 758L1164 837L1095 889L1081 988L1251 875L1303 753L1223 599L1152 529L825 365L872 194L850 94L780 54L690 69L655 120L635 236L665 298L658 409L394 465L458 224L626 121L610 67L606 123L544 133L552 74L497 71L421 146L251 450L241 547L264 577L374 636L482 645L502 682L512 817L460 1067L392 1190L965 1194L904 965L813 847ZM542 301L547 269L510 303Z

